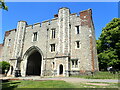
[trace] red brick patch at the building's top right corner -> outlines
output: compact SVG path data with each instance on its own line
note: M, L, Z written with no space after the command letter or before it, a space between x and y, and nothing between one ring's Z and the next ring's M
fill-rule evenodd
M88 25L91 27L92 24L92 10L88 9L80 12L81 26Z

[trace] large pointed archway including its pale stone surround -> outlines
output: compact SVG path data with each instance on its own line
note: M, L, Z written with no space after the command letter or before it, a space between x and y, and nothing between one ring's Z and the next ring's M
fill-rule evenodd
M37 46L30 47L24 54L21 66L23 76L42 76L43 53Z

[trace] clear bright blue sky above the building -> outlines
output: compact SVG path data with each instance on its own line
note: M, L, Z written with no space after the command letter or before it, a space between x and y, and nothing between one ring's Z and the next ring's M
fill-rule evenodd
M5 31L15 29L18 21L24 20L28 25L32 25L50 20L61 7L68 7L71 13L78 14L91 8L96 39L99 38L102 28L118 17L118 2L7 2L6 5L9 10L1 11L0 43L3 42Z

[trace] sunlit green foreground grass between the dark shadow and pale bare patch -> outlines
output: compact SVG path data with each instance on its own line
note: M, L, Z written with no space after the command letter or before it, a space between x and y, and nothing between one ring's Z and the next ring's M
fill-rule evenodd
M17 88L74 88L65 81L20 81Z

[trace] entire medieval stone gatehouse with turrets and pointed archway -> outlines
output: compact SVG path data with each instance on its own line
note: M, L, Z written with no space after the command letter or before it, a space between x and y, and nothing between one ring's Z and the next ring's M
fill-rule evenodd
M60 8L53 19L6 31L0 59L8 61L8 75L69 76L98 71L92 10L70 13Z

